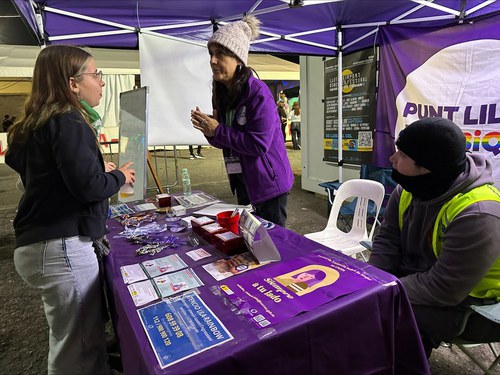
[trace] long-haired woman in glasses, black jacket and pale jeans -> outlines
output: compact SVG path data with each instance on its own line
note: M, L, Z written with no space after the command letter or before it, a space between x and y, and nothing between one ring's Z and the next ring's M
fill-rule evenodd
M108 372L102 287L93 240L106 233L108 198L135 172L104 171L81 100L102 96L101 72L83 49L54 45L35 63L24 117L9 131L6 163L25 191L14 220L14 264L40 291L49 325L49 374Z

